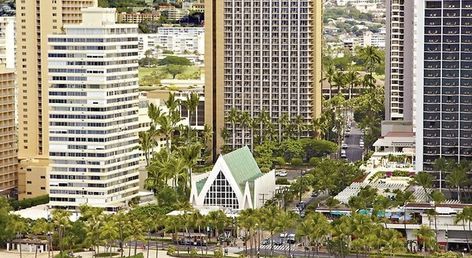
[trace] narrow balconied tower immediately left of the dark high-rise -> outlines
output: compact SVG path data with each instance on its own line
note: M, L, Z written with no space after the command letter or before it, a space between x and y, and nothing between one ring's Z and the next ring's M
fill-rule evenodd
M415 1L387 0L385 120L414 120Z

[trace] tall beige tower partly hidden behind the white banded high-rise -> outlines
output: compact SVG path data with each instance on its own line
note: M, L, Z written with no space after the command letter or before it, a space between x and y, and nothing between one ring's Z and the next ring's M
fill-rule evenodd
M90 6L97 0L16 0L20 199L48 193L47 36L80 23Z

